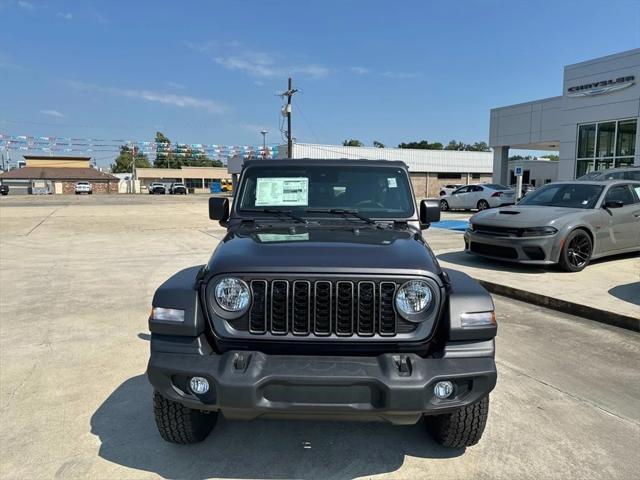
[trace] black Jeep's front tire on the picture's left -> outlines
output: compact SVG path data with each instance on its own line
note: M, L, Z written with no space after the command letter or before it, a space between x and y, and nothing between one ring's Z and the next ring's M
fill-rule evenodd
M218 412L202 412L153 392L153 413L160 436L171 443L201 442L216 424Z

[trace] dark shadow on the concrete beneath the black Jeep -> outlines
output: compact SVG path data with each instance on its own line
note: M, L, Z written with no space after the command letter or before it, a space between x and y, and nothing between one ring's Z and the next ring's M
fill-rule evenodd
M96 410L91 432L100 439L100 457L165 478L349 479L396 471L405 456L450 458L464 453L437 445L423 422L393 426L234 422L220 417L204 442L173 445L156 430L151 395L146 376L139 375L120 385Z

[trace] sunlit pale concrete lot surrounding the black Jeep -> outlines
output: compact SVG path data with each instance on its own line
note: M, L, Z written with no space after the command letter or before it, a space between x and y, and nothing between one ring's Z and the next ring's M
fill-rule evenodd
M466 451L422 424L223 419L163 442L149 302L223 235L198 196L1 199L0 478L637 478L640 334L501 297L498 386Z

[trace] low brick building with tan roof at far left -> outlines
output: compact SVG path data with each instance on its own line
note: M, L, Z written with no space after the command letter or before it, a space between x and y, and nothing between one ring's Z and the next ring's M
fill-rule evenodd
M25 155L26 166L0 174L9 195L73 194L78 181L91 183L94 194L118 193L120 179L91 166L90 157Z

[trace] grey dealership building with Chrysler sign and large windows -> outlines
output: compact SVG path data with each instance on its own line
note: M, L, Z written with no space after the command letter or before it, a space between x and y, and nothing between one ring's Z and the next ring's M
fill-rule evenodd
M562 95L491 110L494 182L509 149L559 151L558 177L640 165L640 49L564 68Z

